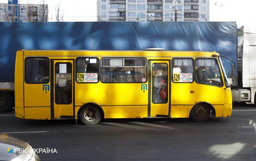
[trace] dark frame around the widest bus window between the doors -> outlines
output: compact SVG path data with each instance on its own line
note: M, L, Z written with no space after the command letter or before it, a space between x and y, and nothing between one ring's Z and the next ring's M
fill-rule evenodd
M138 68L146 68L146 81L145 82L102 82L102 80L101 80L101 77L100 77L100 82L101 83L116 83L116 84L119 84L119 83L126 83L126 84L129 84L129 83L147 83L148 82L148 59L147 58L145 58L145 57L102 57L102 58L100 58L100 62L99 62L99 68L100 68L100 70L99 70L99 72L100 72L100 76L101 76L101 68L102 68L102 66L101 66L101 60L102 59L123 59L123 66L111 66L111 67L119 67L119 68L121 68L121 67L132 67L132 66L124 66L124 59L145 59L146 60L146 66L141 66L141 67L138 67ZM111 67L104 67L103 66L103 68L111 68Z

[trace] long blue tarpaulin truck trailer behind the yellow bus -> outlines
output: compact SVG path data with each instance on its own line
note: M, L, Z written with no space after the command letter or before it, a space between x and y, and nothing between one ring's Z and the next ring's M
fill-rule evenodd
M19 49L216 51L232 59L237 82L236 22L0 22L0 112L14 102ZM232 77L232 64L224 59Z

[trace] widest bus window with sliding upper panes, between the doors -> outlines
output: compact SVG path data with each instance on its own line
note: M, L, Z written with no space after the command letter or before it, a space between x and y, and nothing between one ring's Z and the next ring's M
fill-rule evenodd
M147 81L146 59L102 59L100 80L104 83Z

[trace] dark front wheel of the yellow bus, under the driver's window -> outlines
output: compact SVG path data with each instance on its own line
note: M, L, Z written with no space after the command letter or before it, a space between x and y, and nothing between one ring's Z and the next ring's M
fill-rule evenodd
M190 117L195 122L206 121L210 117L210 108L202 104L195 105L191 109Z

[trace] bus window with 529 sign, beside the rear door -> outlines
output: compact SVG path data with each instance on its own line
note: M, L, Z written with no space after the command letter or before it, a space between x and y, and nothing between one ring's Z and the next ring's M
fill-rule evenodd
M76 59L76 82L96 83L99 80L98 58Z

